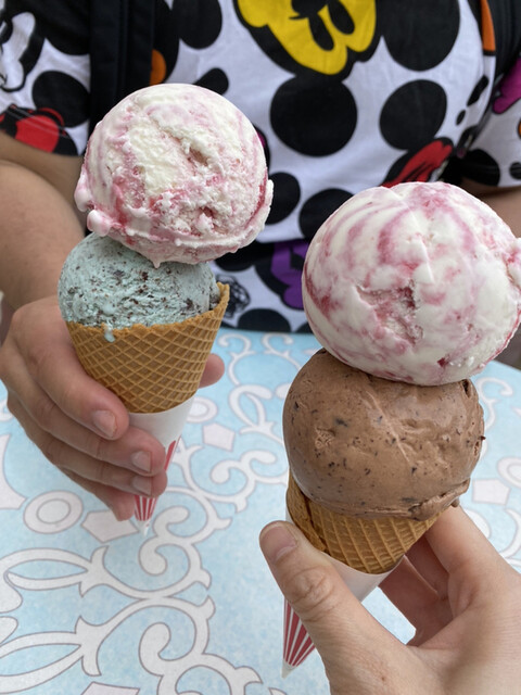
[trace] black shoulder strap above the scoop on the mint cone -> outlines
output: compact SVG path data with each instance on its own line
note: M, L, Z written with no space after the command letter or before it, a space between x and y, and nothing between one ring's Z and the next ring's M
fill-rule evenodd
M154 10L154 0L90 0L90 131L150 84Z

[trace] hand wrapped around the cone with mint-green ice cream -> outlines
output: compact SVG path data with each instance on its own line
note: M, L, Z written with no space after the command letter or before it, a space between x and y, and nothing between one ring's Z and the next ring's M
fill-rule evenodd
M221 361L212 355L201 386L221 374ZM0 349L0 380L8 390L8 408L29 439L117 519L132 516L135 494L155 497L164 492L164 447L130 427L119 399L84 371L55 298L15 312Z

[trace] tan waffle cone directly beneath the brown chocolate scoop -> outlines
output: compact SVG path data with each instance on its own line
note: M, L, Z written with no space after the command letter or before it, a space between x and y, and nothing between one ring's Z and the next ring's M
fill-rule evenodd
M292 521L315 547L367 574L392 569L437 518L347 517L306 497L291 472L287 504Z

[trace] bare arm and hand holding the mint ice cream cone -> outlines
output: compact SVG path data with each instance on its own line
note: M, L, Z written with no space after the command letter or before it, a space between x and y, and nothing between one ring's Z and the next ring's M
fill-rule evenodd
M80 164L0 134L0 289L17 309L0 346L0 379L10 410L47 458L124 519L135 493L165 489L165 451L129 427L123 403L85 374L60 314L60 271L84 237L73 200ZM214 357L204 382L221 370Z

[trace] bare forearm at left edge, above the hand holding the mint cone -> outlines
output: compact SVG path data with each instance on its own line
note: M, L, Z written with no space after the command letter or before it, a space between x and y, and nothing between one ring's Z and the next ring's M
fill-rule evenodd
M14 308L55 293L82 238L73 200L80 165L0 132L0 289Z

